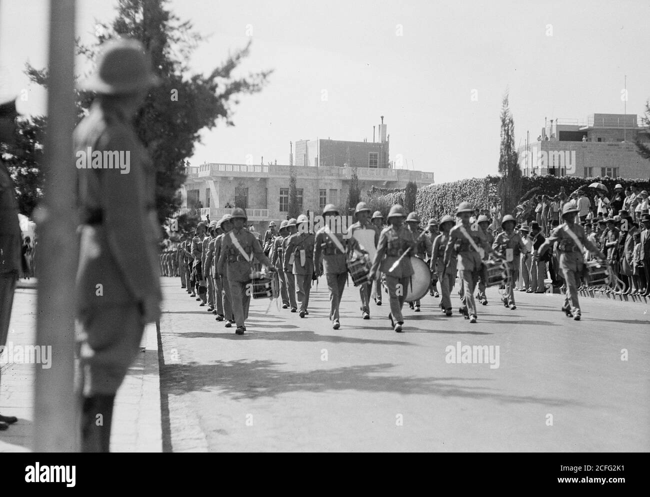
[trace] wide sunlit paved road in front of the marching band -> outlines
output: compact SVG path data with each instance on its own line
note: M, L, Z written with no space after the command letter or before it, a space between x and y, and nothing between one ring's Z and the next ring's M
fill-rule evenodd
M166 450L650 450L645 304L583 298L574 322L558 295L518 292L510 311L490 289L469 324L426 296L422 312L405 309L398 334L385 303L361 319L352 286L331 329L320 285L305 319L253 300L237 337L179 279L162 284ZM489 356L449 363L458 342L494 346L492 359L498 346L499 367Z

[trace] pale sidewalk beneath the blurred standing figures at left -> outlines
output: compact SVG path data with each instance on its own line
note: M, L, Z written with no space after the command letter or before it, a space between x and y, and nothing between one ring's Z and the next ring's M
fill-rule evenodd
M34 281L32 279L32 281ZM29 282L28 282L29 283ZM36 339L36 289L19 285L7 345L27 346ZM113 416L111 452L162 452L158 336L155 324L145 329L145 347L118 391ZM0 452L29 452L34 429L34 381L40 364L0 363L0 413L18 423L0 431Z

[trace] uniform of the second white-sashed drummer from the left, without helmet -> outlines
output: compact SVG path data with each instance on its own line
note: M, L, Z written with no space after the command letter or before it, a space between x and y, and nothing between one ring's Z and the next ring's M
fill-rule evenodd
M338 238L344 252L337 248L336 244L331 240L332 236ZM341 304L341 298L343 298L345 282L348 279L346 259L348 253L357 247L358 243L354 238L343 238L341 233L328 233L325 227L322 227L316 233L314 264L318 270L322 257L322 267L330 290L330 321L339 320L339 305Z

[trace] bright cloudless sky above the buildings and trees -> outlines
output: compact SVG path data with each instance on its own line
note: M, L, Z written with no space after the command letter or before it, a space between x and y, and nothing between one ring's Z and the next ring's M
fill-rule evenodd
M77 36L116 1L77 0ZM506 91L515 144L535 140L544 118L643 114L650 98L650 2L377 0L200 1L168 7L208 36L189 61L209 73L252 38L237 75L272 69L259 94L240 97L234 127L201 134L193 165L289 162L289 142L372 140L384 116L391 160L435 173L435 183L496 174ZM49 2L0 0L0 88L27 90L25 114L47 95L21 73L47 65ZM79 72L87 70L78 60ZM1 92L1 90L0 90Z

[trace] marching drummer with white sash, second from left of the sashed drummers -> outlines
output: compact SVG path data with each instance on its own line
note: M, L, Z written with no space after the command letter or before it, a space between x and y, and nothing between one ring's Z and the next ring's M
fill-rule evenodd
M333 329L339 329L339 305L343 297L343 288L348 279L348 266L346 258L350 251L358 248L355 238L343 238L343 226L336 227L333 233L331 227L339 216L339 210L328 203L323 209L324 226L316 233L314 242L314 266L317 275L323 274L327 278L330 290L330 321ZM321 261L322 256L322 261Z

